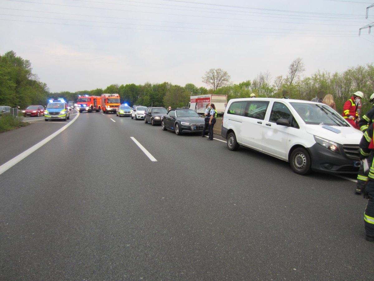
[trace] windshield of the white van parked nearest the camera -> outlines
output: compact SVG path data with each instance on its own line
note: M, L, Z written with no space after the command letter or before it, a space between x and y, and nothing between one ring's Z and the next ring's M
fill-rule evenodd
M328 105L298 102L290 104L305 124L349 127L344 118Z

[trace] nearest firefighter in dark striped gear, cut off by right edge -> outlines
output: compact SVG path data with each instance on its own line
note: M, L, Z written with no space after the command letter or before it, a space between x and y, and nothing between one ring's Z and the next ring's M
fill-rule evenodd
M360 142L360 159L367 159L368 166L368 180L362 192L364 193L364 198L369 199L365 208L364 213L364 224L366 232L366 240L374 241L374 143L373 143L373 131L374 124L371 124L369 128L365 131ZM363 162L361 163L362 166Z

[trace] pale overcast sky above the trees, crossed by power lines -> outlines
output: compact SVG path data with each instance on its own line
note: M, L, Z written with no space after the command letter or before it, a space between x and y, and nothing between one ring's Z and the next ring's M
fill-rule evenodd
M207 87L262 72L304 76L374 62L374 2L365 0L0 0L0 54L30 60L51 92L170 82Z

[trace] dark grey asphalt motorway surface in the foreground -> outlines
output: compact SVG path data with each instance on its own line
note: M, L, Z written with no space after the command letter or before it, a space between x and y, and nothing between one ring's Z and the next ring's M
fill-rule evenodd
M0 134L0 165L64 125ZM0 175L0 280L373 280L354 188L83 113Z

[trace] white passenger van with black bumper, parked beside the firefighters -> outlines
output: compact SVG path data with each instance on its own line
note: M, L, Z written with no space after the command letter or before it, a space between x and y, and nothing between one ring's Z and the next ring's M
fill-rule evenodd
M357 173L362 132L322 103L291 99L231 99L221 136L227 148L239 145L288 161L292 170Z

